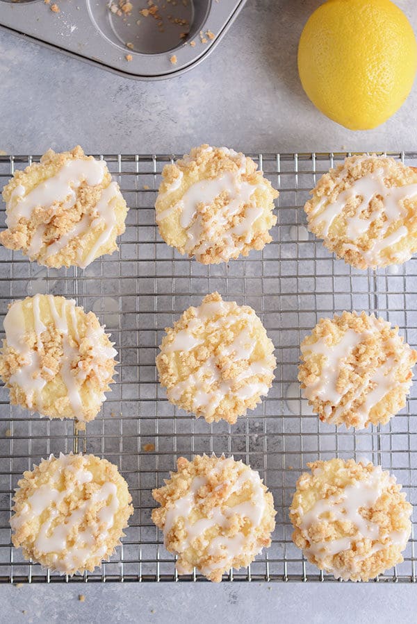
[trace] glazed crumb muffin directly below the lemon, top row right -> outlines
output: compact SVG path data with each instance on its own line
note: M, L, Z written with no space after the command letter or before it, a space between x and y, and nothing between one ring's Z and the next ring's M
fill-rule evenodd
M322 176L306 211L311 232L358 269L401 264L417 251L417 169L352 156Z

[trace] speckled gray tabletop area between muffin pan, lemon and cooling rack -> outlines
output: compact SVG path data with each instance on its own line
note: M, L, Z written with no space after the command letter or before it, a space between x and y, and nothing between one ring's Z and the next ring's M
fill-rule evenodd
M416 89L384 126L357 133L325 119L304 96L297 42L320 3L248 0L202 65L157 83L119 78L2 34L0 149L42 153L79 142L90 152L166 153L204 141L245 151L416 149ZM416 28L416 4L397 3ZM51 28L62 19L42 3L39 10Z

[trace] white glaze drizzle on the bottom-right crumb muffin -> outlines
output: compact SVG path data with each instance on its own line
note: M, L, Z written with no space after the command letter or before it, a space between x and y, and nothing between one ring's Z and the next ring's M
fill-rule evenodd
M314 473L313 473L314 474ZM302 512L299 508L298 512L302 514L300 522L300 530L309 547L306 548L306 554L312 555L316 560L326 566L327 571L334 573L336 578L347 579L350 573L336 568L329 567L326 561L327 557L332 557L342 553L344 550L350 550L355 544L361 543L363 539L369 539L373 542L370 553L361 557L354 557L354 565L359 564L363 559L370 557L382 548L388 548L391 544L399 545L401 550L405 548L407 543L406 532L384 532L375 522L368 521L362 516L359 509L370 509L377 503L384 489L389 484L395 483L395 477L389 473L383 472L381 466L374 466L366 480L357 481L352 485L346 486L343 491L329 498L317 500L315 505L308 512ZM320 521L332 522L350 522L354 525L357 532L350 537L343 537L332 541L313 542L309 536L311 526L320 523ZM381 540L384 540L382 543Z

